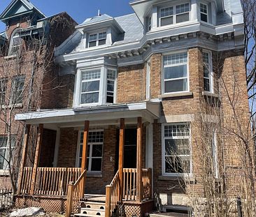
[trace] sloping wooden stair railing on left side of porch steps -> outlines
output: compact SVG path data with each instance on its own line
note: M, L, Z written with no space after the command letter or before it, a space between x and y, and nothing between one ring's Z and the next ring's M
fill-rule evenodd
M74 213L78 207L78 204L80 202L80 199L83 197L83 188L84 186L84 179L86 175L86 170L83 171L83 173L80 175L78 180L75 184L73 184L73 181L71 181L68 185L68 195L66 198L66 215L65 217L71 216L72 213Z

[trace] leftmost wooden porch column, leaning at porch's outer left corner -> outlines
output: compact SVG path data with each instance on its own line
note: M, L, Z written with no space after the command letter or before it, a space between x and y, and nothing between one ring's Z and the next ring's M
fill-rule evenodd
M27 147L29 146L29 133L30 133L31 125L27 124L25 128L24 140L23 140L23 149L22 149L22 160L20 162L20 172L17 182L17 195L20 195L22 188L22 179L23 179L23 171L24 165L27 160Z

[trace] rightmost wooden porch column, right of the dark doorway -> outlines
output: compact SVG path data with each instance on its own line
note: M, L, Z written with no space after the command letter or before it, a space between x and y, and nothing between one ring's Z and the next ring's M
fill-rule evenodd
M141 202L142 198L142 118L138 117L137 126L137 174L136 174L136 200Z

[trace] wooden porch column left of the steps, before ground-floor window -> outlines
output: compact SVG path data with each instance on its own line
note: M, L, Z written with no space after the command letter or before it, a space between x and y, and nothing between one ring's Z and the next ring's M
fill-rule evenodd
M81 163L81 172L84 172L86 170L86 163L87 163L87 143L88 143L88 135L89 135L89 124L90 121L85 121L85 128L83 130L83 151L82 151L82 163ZM85 194L85 177L82 179L82 190L80 197L83 198L83 195Z

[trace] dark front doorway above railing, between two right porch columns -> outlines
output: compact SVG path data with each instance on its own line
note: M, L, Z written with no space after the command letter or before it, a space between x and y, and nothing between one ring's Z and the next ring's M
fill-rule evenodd
M125 129L124 168L136 168L137 129Z

